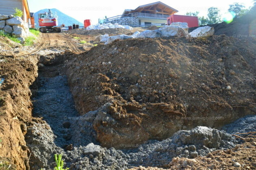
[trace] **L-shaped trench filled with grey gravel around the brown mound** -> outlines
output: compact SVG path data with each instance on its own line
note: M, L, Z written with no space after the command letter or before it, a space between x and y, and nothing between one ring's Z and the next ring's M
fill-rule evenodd
M41 117L43 121L34 121L28 126L25 136L30 150L31 170L54 168L54 154L61 153L64 167L77 170L121 170L140 165L168 168L173 157L204 156L211 151L230 149L241 143L224 131L200 126L179 131L166 140L148 140L144 144L130 146L133 149L103 148L96 141L93 120L98 112L104 111L104 107L85 115L78 114L65 75L64 60L67 56L64 54L48 57L47 60L40 59L45 65L39 64L37 86L33 86L37 88L31 91L34 92L33 117ZM242 131L245 129L243 126L253 124L256 117L242 119L239 121L242 124L231 124L225 130L232 134L239 127Z

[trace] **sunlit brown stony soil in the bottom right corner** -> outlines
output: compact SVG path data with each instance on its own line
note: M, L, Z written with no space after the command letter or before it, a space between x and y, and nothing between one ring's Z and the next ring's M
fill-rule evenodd
M174 158L169 168L171 170L206 170L206 169L228 169L228 170L242 170L256 169L256 138L246 138L246 142L238 144L234 149L227 149L226 151L219 150L209 153L206 157L197 157L195 159L188 158ZM241 166L235 167L234 164L238 162ZM163 170L155 167L137 167L130 170Z

